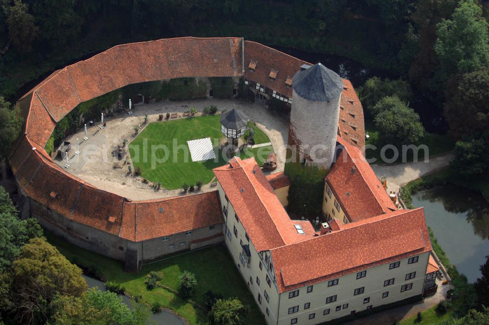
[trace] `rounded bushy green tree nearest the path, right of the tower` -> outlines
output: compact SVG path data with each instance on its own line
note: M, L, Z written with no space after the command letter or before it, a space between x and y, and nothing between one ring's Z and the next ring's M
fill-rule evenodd
M410 144L423 137L420 116L396 96L382 98L374 110L379 112L374 119L375 125L392 144Z

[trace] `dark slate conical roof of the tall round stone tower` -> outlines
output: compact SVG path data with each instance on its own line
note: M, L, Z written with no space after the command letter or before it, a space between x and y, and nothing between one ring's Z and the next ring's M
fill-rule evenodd
M311 101L327 101L340 95L343 82L339 75L321 63L299 71L292 79L294 91Z

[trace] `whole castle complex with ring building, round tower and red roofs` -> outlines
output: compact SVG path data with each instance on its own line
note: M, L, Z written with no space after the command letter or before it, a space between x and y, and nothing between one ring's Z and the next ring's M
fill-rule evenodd
M290 219L289 179L253 158L214 169L215 190L133 201L70 174L44 146L77 105L124 86L180 77L240 78L291 106L289 144L330 169L319 231ZM438 266L424 211L399 209L363 157L352 84L242 38L175 38L115 46L53 72L17 103L24 134L9 163L32 215L51 232L137 271L145 261L224 243L267 324L319 324L421 297ZM313 149L320 146L319 150ZM314 151L315 150L315 151Z

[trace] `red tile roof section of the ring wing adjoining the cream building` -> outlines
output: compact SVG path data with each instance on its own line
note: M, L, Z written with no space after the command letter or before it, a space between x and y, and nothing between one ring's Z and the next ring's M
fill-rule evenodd
M126 202L121 237L143 241L223 222L218 191Z

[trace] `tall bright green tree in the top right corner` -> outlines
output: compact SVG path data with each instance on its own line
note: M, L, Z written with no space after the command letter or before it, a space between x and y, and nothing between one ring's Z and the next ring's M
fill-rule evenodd
M488 67L489 25L474 0L461 0L451 20L442 20L436 29L441 78Z

